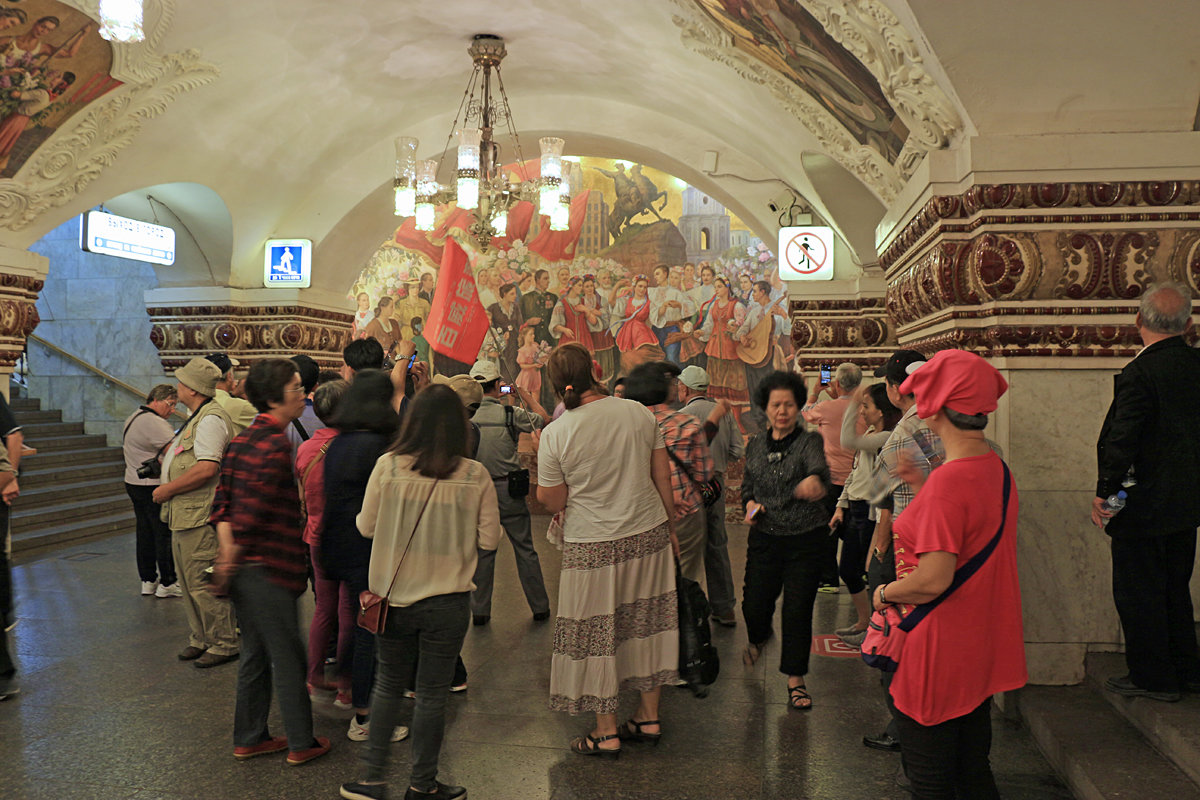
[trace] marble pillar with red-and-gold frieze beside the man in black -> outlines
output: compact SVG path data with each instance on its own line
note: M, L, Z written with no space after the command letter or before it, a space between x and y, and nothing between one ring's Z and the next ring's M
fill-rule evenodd
M1096 439L1112 374L1141 349L1142 291L1172 279L1200 296L1200 181L926 194L883 242L887 309L900 347L968 349L1008 379L989 435L1020 491L1030 679L1079 682L1090 650L1121 646L1109 541L1088 519Z

